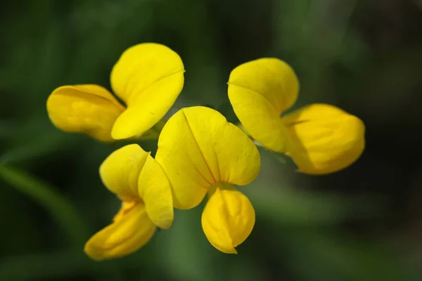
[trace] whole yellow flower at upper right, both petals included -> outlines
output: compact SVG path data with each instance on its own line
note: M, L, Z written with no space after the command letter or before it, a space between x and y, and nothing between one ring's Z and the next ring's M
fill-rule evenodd
M292 157L303 173L332 173L362 154L364 123L338 107L312 104L281 117L299 91L295 72L283 61L261 58L239 65L228 84L231 105L250 136Z

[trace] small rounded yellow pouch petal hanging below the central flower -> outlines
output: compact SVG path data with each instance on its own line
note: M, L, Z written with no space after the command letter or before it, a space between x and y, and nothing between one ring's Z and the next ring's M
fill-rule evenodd
M255 224L255 210L248 197L231 185L217 185L202 214L202 226L212 246L226 254L237 254Z

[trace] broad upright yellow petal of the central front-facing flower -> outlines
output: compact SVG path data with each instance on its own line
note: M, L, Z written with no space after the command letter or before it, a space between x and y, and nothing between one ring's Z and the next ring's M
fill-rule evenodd
M219 112L200 106L183 108L168 120L155 159L179 209L196 207L215 183L246 185L260 171L260 154L245 133Z

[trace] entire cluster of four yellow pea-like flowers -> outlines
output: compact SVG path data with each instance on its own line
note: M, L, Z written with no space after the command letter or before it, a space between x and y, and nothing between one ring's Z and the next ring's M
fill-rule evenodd
M314 104L283 115L298 98L299 83L277 58L252 60L231 72L228 95L239 126L202 106L182 108L162 121L184 85L181 58L166 46L127 49L110 80L125 105L93 84L60 86L47 100L51 122L63 131L108 143L158 138L155 159L132 144L101 164L101 180L122 207L85 245L92 259L136 251L157 227L170 228L174 208L192 209L205 195L205 236L220 251L236 254L255 224L250 200L236 188L260 171L255 143L288 155L305 174L344 169L364 150L364 124L338 107Z

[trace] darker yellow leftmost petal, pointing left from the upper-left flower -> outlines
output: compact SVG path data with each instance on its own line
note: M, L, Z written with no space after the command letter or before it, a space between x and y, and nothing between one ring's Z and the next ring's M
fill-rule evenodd
M111 142L111 129L124 107L97 85L61 86L47 100L51 122L70 133L86 133L98 141Z

